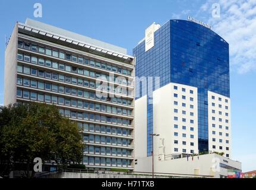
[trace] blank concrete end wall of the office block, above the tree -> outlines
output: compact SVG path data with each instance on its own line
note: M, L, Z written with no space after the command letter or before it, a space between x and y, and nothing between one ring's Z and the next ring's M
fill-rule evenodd
M15 24L11 39L5 49L4 105L16 102L18 27Z

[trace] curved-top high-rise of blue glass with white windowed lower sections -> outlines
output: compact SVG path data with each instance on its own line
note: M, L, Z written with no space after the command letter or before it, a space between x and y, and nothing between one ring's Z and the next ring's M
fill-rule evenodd
M169 20L150 26L133 54L135 157L151 156L152 133L162 140L154 151L165 155L199 150L230 157L229 44L209 27Z

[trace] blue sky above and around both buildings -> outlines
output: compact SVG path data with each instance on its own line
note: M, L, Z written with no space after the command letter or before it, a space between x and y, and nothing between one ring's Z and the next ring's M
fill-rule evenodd
M34 18L33 5L41 3L43 17ZM212 16L214 3L220 17ZM151 23L187 20L187 15L209 23L230 45L230 94L232 103L232 159L244 172L256 169L256 1L255 0L109 0L109 1L0 1L0 105L4 102L5 36L16 21L43 21L128 49L144 37Z

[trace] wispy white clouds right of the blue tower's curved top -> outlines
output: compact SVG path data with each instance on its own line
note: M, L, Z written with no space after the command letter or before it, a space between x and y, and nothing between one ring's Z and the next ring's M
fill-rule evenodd
M208 0L200 8L211 17ZM256 71L256 0L219 0L220 18L209 18L213 30L220 34L230 48L230 65L240 74Z

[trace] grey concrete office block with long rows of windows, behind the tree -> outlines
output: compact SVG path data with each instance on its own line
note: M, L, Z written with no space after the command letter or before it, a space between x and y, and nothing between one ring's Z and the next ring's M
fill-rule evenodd
M132 170L133 78L126 49L27 20L5 50L4 102L55 104L80 126L88 169ZM97 81L107 97L97 96Z

